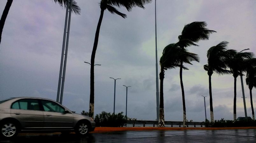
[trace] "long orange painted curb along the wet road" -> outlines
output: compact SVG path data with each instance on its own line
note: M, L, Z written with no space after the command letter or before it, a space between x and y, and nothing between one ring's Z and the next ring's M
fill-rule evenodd
M256 129L256 127L96 127L93 132L140 131L140 130L231 130ZM92 132L92 133L93 133Z

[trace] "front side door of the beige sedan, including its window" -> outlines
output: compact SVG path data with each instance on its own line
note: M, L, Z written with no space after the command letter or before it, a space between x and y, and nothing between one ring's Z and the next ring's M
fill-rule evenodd
M41 100L44 109L44 127L48 129L72 129L73 114L65 113L65 108L50 100Z

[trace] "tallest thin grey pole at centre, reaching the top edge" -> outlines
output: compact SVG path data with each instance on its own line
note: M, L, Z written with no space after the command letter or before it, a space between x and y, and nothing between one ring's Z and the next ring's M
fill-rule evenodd
M156 0L155 0L155 36L156 36L156 117L157 121L159 121L159 79L158 79L158 58L157 58L157 34L156 34Z

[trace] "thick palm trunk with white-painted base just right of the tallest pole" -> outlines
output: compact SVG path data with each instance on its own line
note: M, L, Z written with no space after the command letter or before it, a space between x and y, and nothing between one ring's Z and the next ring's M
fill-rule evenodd
M159 105L159 121L158 127L164 127L164 92L163 92L163 83L164 83L164 70L161 68L160 74L160 105Z

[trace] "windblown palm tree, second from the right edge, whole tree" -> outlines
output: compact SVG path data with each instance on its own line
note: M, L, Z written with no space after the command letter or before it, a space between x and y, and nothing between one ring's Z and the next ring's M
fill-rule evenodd
M237 113L236 113L236 98L237 98L237 77L240 75L243 75L242 72L246 70L245 66L245 60L252 59L253 53L251 52L234 52L234 55L231 59L228 60L228 66L230 68L230 71L233 74L234 77L234 121L237 120Z

